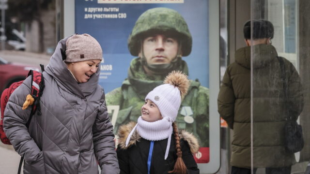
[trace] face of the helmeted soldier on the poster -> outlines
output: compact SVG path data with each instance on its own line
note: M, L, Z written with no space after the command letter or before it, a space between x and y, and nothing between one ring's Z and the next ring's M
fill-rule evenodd
M142 44L143 53L149 65L170 63L178 53L178 41L164 34L146 37ZM140 51L140 58L141 54Z

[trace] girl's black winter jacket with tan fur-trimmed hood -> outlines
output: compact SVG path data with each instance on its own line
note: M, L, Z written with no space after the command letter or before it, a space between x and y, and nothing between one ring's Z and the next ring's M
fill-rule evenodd
M130 138L130 142L125 147L126 139L136 123L130 122L119 128L119 145L117 147L117 158L121 169L121 174L147 174L147 161L150 150L150 141L140 137L135 131ZM182 131L181 135L182 158L186 165L188 174L199 174L197 163L192 153L199 150L197 139L190 133ZM177 159L175 150L175 140L172 136L169 155L165 160L165 152L168 139L155 141L151 160L150 174L168 174L174 168Z

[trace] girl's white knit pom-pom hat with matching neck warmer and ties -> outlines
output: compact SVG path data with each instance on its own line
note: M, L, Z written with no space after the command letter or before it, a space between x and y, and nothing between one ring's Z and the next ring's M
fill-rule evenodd
M168 74L164 83L163 85L155 87L145 97L145 100L151 100L157 105L163 119L155 122L147 122L140 116L137 125L129 133L125 145L127 146L129 144L130 137L136 129L140 136L146 140L159 141L168 138L165 153L166 160L173 131L172 123L178 115L182 98L187 93L189 81L185 74L179 71L172 71Z

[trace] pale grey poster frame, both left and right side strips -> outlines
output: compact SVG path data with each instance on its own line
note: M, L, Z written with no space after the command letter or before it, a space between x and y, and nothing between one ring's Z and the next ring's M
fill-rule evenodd
M75 33L75 0L63 2L64 37ZM220 117L217 113L219 92L219 1L209 0L209 139L210 161L199 163L201 174L214 174L220 168ZM212 130L212 131L211 131ZM212 133L211 133L212 132Z

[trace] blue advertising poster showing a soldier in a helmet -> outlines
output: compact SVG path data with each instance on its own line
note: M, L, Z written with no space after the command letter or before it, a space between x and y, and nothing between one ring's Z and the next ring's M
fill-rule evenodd
M167 73L181 70L191 85L176 123L179 130L198 137L201 148L195 160L209 162L208 2L75 0L75 32L92 35L103 49L99 84L115 134L119 126L137 121L146 94L162 84ZM173 44L177 46L169 47ZM167 61L152 64L153 57Z

